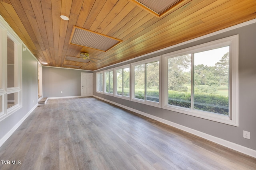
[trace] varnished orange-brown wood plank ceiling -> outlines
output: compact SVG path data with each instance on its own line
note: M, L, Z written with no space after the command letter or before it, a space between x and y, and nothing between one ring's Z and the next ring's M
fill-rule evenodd
M256 0L182 0L160 18L128 0L0 0L0 14L43 65L97 70L252 20ZM107 52L71 45L73 25L123 42ZM65 60L80 52L100 60Z

